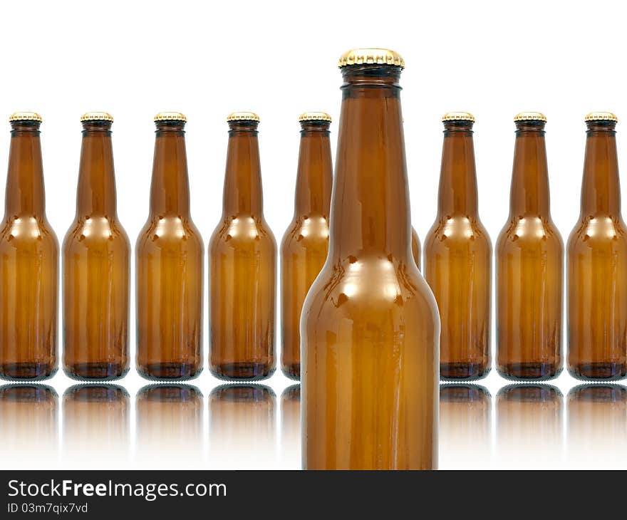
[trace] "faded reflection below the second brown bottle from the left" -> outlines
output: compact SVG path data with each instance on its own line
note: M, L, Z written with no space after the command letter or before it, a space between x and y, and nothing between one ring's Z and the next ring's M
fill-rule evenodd
M74 385L63 393L63 458L78 466L125 466L130 403L118 385Z

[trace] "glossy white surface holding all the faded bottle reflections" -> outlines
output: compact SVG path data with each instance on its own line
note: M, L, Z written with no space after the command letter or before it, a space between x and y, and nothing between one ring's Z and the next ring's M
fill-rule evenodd
M300 386L282 375L224 384L0 386L0 460L11 468L299 469ZM440 385L440 469L627 467L627 386Z

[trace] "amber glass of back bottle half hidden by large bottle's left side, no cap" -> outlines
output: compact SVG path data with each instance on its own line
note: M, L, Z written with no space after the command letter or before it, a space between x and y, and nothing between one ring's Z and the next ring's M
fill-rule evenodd
M301 378L301 309L326 261L333 166L328 121L302 121L294 219L281 242L281 370Z

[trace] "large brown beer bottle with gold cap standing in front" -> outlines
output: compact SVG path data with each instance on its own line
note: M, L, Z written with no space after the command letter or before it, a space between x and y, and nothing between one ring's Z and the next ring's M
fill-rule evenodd
M432 469L440 321L411 249L404 63L358 49L339 66L329 252L301 316L303 464Z

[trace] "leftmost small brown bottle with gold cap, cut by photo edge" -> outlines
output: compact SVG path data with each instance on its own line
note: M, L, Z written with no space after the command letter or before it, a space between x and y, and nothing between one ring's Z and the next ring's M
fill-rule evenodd
M9 173L0 232L0 377L56 373L58 241L46 218L39 126L11 115Z

